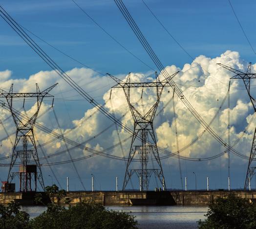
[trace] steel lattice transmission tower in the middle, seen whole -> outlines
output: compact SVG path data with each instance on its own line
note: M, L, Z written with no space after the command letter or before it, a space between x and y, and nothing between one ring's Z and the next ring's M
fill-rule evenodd
M163 186L163 189L166 190L163 169L159 158L156 138L153 130L153 120L164 87L170 85L168 81L173 78L177 73L178 72L171 75L169 79L167 79L167 81L165 82L160 82L156 74L156 82L149 83L130 83L130 73L128 74L126 82L123 82L116 77L108 74L108 76L110 76L117 83L112 88L123 88L130 112L134 120L134 129L126 167L123 190L125 190L125 188L127 187L128 182L130 181L131 176L134 173L138 176L138 178L140 178L140 190L143 191L149 189L149 180L152 174L154 174L158 178ZM141 105L143 108L143 112L140 112L138 107L135 107L130 101L130 90L131 88L142 88L143 93L143 89L146 89L148 87L156 88L156 101L151 107L149 107L148 111L145 111L142 101ZM141 167L131 169L132 164L134 164L132 162L135 161L134 159L136 157L140 161ZM150 167L149 161L154 160L156 161L156 165L154 166L152 162L152 166Z

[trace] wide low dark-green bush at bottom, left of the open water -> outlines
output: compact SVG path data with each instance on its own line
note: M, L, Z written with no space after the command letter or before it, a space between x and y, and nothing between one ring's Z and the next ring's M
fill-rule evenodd
M82 202L68 208L50 204L29 226L31 229L137 229L136 225L134 217L124 212Z

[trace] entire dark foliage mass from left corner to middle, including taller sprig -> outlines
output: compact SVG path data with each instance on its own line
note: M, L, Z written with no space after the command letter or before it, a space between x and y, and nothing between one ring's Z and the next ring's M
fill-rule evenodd
M59 205L64 197L64 204L70 204L65 190L53 185L45 187L45 192L51 203L31 220L14 202L7 207L0 205L0 229L137 229L134 216L125 212L108 211L102 205L84 202L65 208ZM35 196L37 203L42 203L42 199L41 193Z

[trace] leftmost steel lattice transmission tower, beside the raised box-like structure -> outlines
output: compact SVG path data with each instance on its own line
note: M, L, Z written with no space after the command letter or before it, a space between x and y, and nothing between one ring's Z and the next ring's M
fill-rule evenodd
M32 191L33 176L35 182L34 190L37 190L37 180L44 189L43 175L38 158L33 128L38 117L43 98L53 97L49 94L49 92L56 85L57 83L41 92L38 84L36 83L37 91L33 93L13 93L13 84L11 85L9 92L0 89L0 98L6 98L7 104L12 113L12 117L17 128L7 183L11 183L15 176L18 175L20 178L20 191L23 192ZM14 98L23 98L23 107L25 103L25 98L36 98L36 112L28 120L22 119L17 110L13 108ZM12 172L13 167L18 160L20 161L19 172Z

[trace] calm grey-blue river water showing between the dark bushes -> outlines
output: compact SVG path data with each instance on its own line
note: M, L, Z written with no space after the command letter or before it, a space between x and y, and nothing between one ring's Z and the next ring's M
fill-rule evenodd
M196 229L199 219L204 219L208 207L199 206L107 206L107 209L134 215L140 229ZM22 207L30 217L42 213L45 207Z

